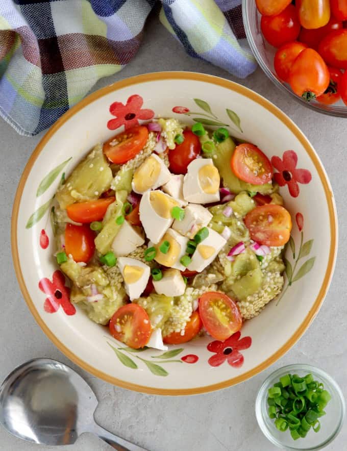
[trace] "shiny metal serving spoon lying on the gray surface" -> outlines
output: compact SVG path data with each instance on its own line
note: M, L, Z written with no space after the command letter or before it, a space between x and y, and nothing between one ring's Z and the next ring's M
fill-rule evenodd
M18 438L69 445L91 432L118 451L145 451L96 424L96 407L96 396L85 380L56 360L30 360L0 386L0 423Z

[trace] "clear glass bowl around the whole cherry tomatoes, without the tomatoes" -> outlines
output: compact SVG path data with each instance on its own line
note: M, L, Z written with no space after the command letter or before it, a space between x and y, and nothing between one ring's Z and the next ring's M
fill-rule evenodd
M274 69L274 56L276 48L268 44L263 38L260 29L261 15L257 10L255 0L242 0L242 17L247 40L252 52L263 69L267 77L282 91L289 93L297 102L311 110L331 116L347 117L347 106L342 101L334 105L323 105L313 100L306 102L304 99L294 94L289 85L278 79Z

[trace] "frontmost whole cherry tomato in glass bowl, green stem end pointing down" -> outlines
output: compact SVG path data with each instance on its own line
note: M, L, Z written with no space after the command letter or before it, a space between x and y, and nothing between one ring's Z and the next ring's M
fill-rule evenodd
M303 50L289 71L291 89L307 102L323 94L328 88L329 82L328 67L313 48Z

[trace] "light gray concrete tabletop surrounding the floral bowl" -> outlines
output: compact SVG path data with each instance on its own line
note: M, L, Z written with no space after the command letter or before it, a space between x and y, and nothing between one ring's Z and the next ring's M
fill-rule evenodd
M94 89L135 74L160 70L192 70L235 80L224 70L188 57L156 17L147 23L143 44L134 60L120 73L101 80ZM328 296L304 337L276 364L241 385L192 397L159 397L114 387L71 364L43 334L19 291L12 266L10 218L21 172L41 136L25 138L0 120L0 380L13 367L35 357L60 360L75 368L92 386L99 407L95 417L110 431L151 451L272 451L254 414L257 390L266 376L283 365L310 363L333 375L347 397L347 120L311 112L280 92L258 69L245 86L268 98L286 112L307 135L328 172L339 216L339 252ZM347 450L347 425L326 449ZM0 429L1 450L53 449L21 442ZM60 448L58 448L60 449ZM64 448L65 449L65 448ZM86 434L66 451L111 449Z

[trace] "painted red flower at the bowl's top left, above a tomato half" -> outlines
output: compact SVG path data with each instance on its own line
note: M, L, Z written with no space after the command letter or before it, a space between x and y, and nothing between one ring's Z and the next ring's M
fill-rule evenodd
M124 130L129 130L137 126L139 119L152 119L154 116L153 110L143 109L143 98L140 95L134 94L128 98L126 105L121 102L114 102L110 106L110 113L116 116L116 119L111 119L107 122L107 128L115 130L120 126L124 126Z

